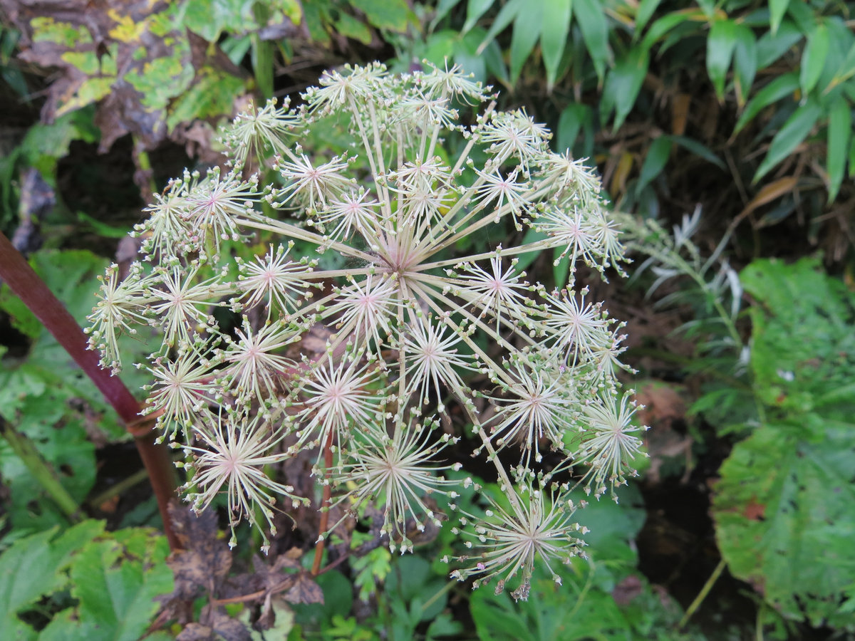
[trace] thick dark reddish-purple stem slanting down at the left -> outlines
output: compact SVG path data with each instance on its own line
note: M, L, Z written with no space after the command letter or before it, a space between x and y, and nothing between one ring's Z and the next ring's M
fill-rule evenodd
M139 457L149 473L151 488L155 493L157 507L163 520L163 531L172 550L180 549L178 539L169 519L167 504L175 493L175 473L172 458L166 445L155 444L152 421L140 420L140 405L121 379L111 376L98 363L95 352L86 349L86 336L74 316L53 295L44 280L38 277L24 256L15 249L0 232L0 278L27 305L42 325L53 334L56 342L68 352L85 374L96 385L116 414L133 434Z

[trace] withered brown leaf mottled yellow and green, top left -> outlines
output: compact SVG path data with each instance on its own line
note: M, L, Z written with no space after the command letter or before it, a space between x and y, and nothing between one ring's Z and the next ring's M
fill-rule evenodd
M182 5L0 0L21 32L21 59L60 72L48 88L43 120L97 103L102 151L126 133L151 149L178 124L228 115L233 98L245 91L239 68L215 44L187 30ZM194 93L197 85L217 91Z

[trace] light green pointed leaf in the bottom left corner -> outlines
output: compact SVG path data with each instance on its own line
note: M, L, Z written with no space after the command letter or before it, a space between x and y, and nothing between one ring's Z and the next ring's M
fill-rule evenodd
M57 536L54 528L38 532L0 555L0 629L3 638L36 638L36 632L18 613L68 582L62 568L81 545L103 532L103 523L86 520Z

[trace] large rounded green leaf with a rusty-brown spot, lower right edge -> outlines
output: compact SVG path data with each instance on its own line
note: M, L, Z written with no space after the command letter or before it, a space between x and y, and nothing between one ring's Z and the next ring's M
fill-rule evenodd
M825 426L817 442L793 428L762 426L736 444L716 484L716 540L730 572L783 615L852 630L855 426Z

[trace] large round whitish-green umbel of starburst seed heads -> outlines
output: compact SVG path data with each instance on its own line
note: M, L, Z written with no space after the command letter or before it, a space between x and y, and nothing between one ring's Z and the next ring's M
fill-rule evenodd
M317 448L333 505L374 503L404 551L444 496L465 548L453 575L525 597L536 563L581 554L575 485L613 491L640 448L616 379L622 325L576 282L581 263L622 273L598 179L457 67L347 67L320 85L298 109L240 115L228 171L157 197L141 261L103 279L91 347L118 370L119 334L162 332L149 411L184 448L198 509L224 492L233 523L272 528L274 505L308 499L273 464ZM310 144L318 132L351 144ZM533 252L569 259L569 283L529 279ZM496 471L486 514L458 504L463 487L486 492L451 473L466 448Z

